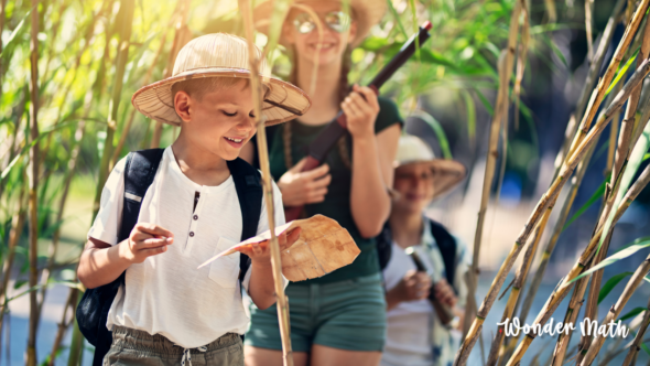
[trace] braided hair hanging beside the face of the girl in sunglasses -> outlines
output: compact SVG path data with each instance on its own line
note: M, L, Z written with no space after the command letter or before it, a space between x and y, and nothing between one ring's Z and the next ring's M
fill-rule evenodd
M289 47L289 58L291 61L291 72L289 73L289 83L293 85L297 85L297 60L295 49L290 46ZM348 74L353 66L353 49L348 45L343 53L343 61L340 65L340 75L338 82L338 103L340 104L345 97L350 93L350 85L348 82ZM337 141L338 153L340 154L340 160L343 160L344 165L347 169L351 166L351 158L348 149L348 141L346 138L347 134L344 134ZM284 164L286 169L293 166L293 160L291 158L291 121L284 123L283 126L283 144L284 144Z

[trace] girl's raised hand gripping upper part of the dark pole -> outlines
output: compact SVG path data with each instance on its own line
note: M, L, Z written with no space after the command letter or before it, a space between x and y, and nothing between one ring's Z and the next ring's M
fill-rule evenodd
M375 120L379 114L377 94L367 86L353 86L350 93L340 104L347 118L347 129L353 138L375 136Z

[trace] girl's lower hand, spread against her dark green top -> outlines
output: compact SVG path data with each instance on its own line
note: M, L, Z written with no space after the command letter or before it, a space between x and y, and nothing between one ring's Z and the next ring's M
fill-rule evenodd
M328 174L329 166L323 164L308 172L301 172L305 162L306 158L299 161L278 181L278 187L282 192L282 203L285 207L325 201L327 186L332 182L332 175Z

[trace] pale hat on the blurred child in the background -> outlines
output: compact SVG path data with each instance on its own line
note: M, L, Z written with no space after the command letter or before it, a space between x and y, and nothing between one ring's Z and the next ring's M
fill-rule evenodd
M455 160L436 159L433 150L422 139L403 134L399 140L393 166L397 169L414 163L427 163L437 172L433 181L434 198L448 193L467 175L467 170L462 163Z

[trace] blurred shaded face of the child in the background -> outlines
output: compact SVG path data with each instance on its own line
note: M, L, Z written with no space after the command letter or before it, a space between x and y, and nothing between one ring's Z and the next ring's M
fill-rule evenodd
M396 208L421 213L433 200L435 179L436 173L429 163L412 163L396 169L393 187L400 193Z

